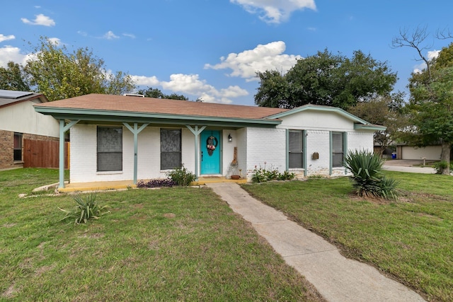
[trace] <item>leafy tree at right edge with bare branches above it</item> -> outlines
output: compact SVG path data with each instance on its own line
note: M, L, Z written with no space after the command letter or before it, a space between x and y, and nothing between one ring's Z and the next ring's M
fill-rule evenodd
M448 175L453 144L453 44L442 48L437 59L429 60L423 56L427 37L426 28L416 28L411 34L400 30L400 36L394 38L394 47L413 47L426 64L409 79L411 98L406 107L413 127L404 129L401 137L416 146L441 144L445 167L440 173Z

